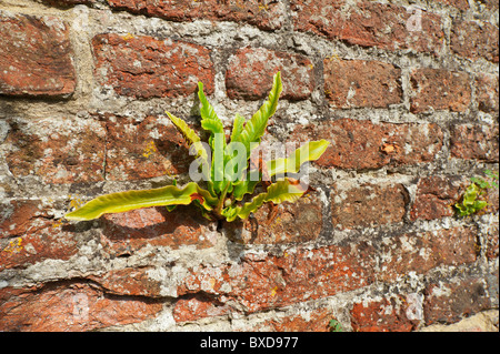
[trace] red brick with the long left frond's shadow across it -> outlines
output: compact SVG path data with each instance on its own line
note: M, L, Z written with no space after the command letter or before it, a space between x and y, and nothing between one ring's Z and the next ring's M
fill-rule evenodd
M194 206L180 205L172 212L159 206L106 214L102 223L101 243L113 256L130 255L146 246L207 249L217 242L213 224Z

